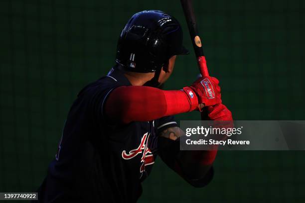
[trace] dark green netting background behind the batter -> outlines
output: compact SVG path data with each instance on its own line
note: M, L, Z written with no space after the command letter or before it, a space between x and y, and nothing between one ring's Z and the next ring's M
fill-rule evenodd
M236 120L304 120L303 0L194 0L210 75ZM0 192L34 191L54 158L78 91L114 64L131 15L178 0L1 0ZM193 82L194 54L177 57L167 89ZM176 116L198 119L198 112ZM158 159L140 202L304 202L302 151L221 151L215 178L194 189Z

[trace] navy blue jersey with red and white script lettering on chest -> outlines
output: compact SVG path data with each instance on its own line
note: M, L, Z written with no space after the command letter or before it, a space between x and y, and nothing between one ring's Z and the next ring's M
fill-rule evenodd
M85 87L73 103L55 159L39 188L41 202L136 202L151 173L158 131L177 126L173 116L114 124L104 115L107 96L130 86L119 70Z

